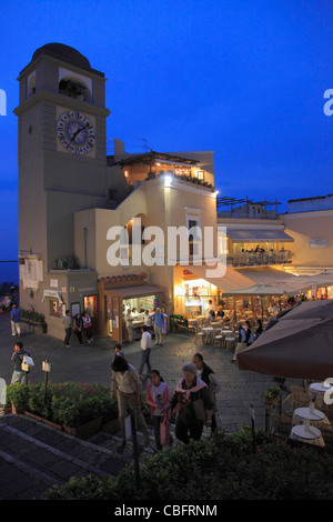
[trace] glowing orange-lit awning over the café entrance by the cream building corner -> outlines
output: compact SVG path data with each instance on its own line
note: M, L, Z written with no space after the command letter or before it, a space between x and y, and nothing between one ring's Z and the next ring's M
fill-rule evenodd
M200 279L204 279L211 284L214 284L218 287L222 292L231 292L233 290L239 290L241 288L246 288L251 287L251 284L254 284L254 281L242 273L238 272L236 270L230 268L230 267L223 267L223 271L225 269L225 272L223 274L223 271L221 270L221 275L216 274L216 277L206 277L208 271L214 270L214 267L210 267L206 264L201 264L201 265L193 265L190 264L188 267L182 267L184 270L188 270L189 272L193 273ZM216 265L215 265L216 269Z

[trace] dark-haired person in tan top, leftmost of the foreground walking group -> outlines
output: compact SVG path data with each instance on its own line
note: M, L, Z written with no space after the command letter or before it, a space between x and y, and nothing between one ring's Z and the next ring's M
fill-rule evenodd
M144 444L148 445L150 443L150 436L141 412L142 385L139 375L135 369L122 357L114 358L111 368L111 398L114 399L117 393L121 433L121 440L117 443L117 448L123 448L125 445L124 420L128 416L128 402L134 411L135 424L137 426L138 424L140 425L144 435Z

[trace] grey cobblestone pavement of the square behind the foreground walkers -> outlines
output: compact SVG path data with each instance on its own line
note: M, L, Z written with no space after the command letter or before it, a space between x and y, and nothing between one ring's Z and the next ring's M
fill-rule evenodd
M8 314L0 315L0 378L10 383L12 363L10 357L14 341L11 337ZM34 368L29 374L31 382L43 382L42 361L51 363L49 380L52 382L98 382L110 385L111 358L113 344L108 339L97 339L93 344L80 347L73 339L71 348L64 348L62 340L48 334L24 332L20 338L34 360ZM141 360L140 342L123 345L128 361L139 369ZM240 430L250 424L250 404L254 408L255 424L264 429L263 392L272 385L272 378L254 372L240 371L232 363L232 352L212 345L196 347L193 335L169 333L163 347L152 347L151 365L158 369L171 392L181 378L183 364L191 362L192 355L200 351L204 361L214 370L221 391L218 394L218 425L226 432ZM295 383L297 383L295 381ZM143 388L145 381L143 380ZM286 381L286 387L290 382Z

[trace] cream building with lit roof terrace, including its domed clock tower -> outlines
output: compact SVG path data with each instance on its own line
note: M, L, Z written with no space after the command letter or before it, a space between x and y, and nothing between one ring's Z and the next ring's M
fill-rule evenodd
M97 333L122 341L127 308L139 325L145 310L174 309L180 263L202 257L196 228L212 229L216 255L213 152L129 154L114 140L107 157L104 74L68 46L38 49L19 83L21 308L44 314L59 338L65 310L89 310ZM172 259L149 237L157 227L164 240L185 231Z

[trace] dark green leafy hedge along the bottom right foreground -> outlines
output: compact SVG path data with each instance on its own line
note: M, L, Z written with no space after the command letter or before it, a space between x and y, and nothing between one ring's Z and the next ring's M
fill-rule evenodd
M290 444L244 426L239 433L218 432L148 458L135 485L133 465L115 479L71 479L51 489L46 500L329 500L333 453Z

